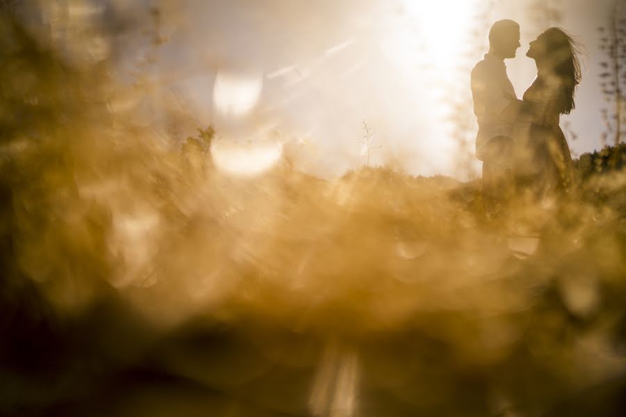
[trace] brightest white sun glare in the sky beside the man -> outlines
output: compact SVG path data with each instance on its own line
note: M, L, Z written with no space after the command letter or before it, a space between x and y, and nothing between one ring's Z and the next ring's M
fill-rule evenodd
M454 167L458 142L452 133L451 102L467 90L473 63L466 62L468 37L479 0L403 0L401 13L392 15L380 33L385 57L413 88L430 121L428 160L439 172ZM418 81L418 82L416 82Z

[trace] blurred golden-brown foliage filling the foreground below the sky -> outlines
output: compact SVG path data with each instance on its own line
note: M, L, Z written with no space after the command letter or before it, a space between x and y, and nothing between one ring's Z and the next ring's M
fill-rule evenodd
M623 411L623 170L499 218L476 181L230 177L0 28L0 414Z

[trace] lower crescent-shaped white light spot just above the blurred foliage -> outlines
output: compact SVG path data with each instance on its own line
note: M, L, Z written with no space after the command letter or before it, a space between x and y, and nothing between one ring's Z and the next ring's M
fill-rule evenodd
M219 170L239 177L254 177L270 169L282 156L282 143L232 144L214 142L211 157Z

